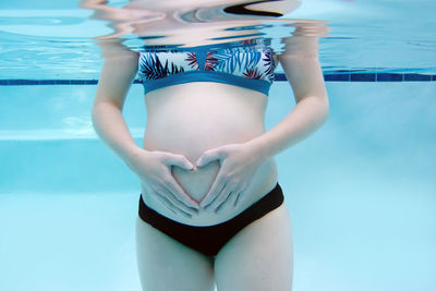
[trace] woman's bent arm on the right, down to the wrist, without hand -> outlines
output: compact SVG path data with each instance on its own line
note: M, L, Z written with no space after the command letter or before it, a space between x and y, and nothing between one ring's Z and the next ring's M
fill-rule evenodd
M329 102L318 60L317 40L317 37L308 36L294 36L286 40L286 50L279 60L296 105L276 126L250 141L265 158L304 140L327 120Z

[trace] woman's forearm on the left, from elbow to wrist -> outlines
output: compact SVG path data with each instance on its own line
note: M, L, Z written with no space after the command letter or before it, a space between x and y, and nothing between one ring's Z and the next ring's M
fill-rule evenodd
M93 107L93 125L100 138L126 163L136 145L121 109L111 102L98 102Z

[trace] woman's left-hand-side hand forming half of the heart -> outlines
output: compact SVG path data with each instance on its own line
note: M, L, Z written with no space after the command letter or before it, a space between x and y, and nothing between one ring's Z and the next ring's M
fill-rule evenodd
M174 214L192 217L198 213L198 203L185 193L171 173L172 166L185 170L194 168L183 155L138 147L131 153L126 163L140 177L147 194L155 194Z

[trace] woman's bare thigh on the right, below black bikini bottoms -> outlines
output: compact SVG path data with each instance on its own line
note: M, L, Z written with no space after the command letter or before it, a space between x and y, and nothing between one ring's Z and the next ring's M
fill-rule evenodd
M288 207L253 221L215 258L218 291L291 291L293 242Z

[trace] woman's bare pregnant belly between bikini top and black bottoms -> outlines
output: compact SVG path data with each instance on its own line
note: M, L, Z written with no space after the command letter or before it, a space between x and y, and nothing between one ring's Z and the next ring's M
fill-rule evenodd
M207 149L244 143L265 132L265 95L214 83L178 86L146 95L145 149L180 154L195 166ZM191 171L172 167L172 174L186 194L199 202L210 189L219 168L215 160ZM208 226L234 217L270 191L276 182L276 162L270 158L257 169L238 208L223 207L219 215L201 208L192 218L174 215L155 195L143 196L149 207L173 220ZM142 191L144 193L145 189Z

